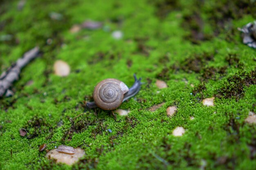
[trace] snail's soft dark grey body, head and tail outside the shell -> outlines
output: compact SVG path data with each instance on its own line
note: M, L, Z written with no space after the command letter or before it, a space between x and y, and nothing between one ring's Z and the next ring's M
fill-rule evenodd
M122 102L124 102L124 101L126 101L127 99L129 99L129 98L135 96L135 95L139 92L139 90L140 90L140 88L141 88L141 84L142 84L142 83L141 83L141 78L137 79L137 77L136 77L135 74L134 74L133 76L134 76L135 82L134 82L134 84L132 85L132 87L129 88L129 91L124 94L124 99L123 99ZM88 108L97 108L97 107L98 107L95 102L87 102L86 106L87 106Z

